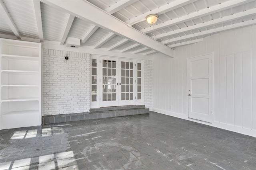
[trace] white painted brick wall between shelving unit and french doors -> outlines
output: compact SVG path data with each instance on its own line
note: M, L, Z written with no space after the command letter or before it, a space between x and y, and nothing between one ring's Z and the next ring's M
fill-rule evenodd
M43 49L42 68L42 115L89 111L89 54Z

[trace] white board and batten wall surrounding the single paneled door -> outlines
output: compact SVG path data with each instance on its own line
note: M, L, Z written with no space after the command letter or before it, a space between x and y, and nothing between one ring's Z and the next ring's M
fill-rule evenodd
M188 58L212 53L213 122L206 125L256 137L256 25L205 37L154 57L153 111L188 119Z

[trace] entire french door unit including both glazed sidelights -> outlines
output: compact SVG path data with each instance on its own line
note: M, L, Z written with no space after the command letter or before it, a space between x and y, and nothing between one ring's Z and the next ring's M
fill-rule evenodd
M143 104L141 61L91 57L90 107Z

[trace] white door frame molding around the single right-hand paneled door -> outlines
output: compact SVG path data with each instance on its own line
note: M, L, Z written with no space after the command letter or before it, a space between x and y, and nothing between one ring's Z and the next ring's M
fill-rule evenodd
M188 75L189 75L188 74L189 73L189 70L188 70L188 60L196 58L196 57L201 57L201 56L204 56L204 55L211 55L211 57L212 57L212 62L211 62L212 63L212 96L211 96L211 98L212 98L212 122L210 123L210 122L206 122L206 121L190 118L189 117L189 105L188 105L188 113L187 113L186 117L187 117L188 120L192 120L192 121L195 121L195 122L199 121L199 122L205 122L205 123L213 124L215 122L214 121L214 52L206 53L206 54L197 55L197 56L194 56L194 57L187 58L187 79L188 79ZM187 82L187 92L188 92L188 90L189 90L189 87L188 87L188 82ZM189 100L188 96L187 96L187 100Z

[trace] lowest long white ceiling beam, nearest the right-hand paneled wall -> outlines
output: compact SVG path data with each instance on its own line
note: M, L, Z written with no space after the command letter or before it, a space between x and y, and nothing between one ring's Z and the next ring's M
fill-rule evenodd
M172 43L172 42L175 42L175 41L180 41L180 40L183 40L183 39L193 38L193 37L202 36L202 35L209 35L209 34L212 34L212 33L218 33L218 32L222 32L222 31L227 31L227 30L230 30L230 29L245 27L245 26L254 25L254 24L256 24L256 20L244 21L244 22L240 22L240 23L236 23L236 24L232 24L232 25L227 25L227 26L224 26L224 27L209 29L207 31L202 31L202 32L199 32L199 33L193 33L193 34L185 35L185 36L178 37L178 38L168 39L168 40L162 41L161 43L168 44L168 43Z

